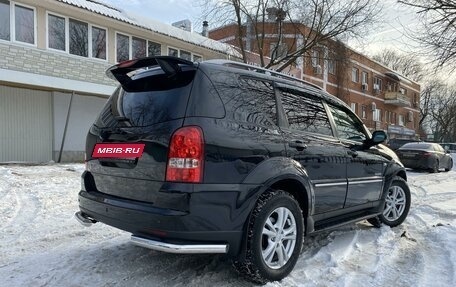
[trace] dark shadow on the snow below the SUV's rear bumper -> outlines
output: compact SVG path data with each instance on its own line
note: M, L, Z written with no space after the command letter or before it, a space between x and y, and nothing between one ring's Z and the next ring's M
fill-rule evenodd
M119 286L252 286L224 255L170 254L129 242L99 247L93 246L83 261L108 285L112 281Z

